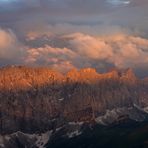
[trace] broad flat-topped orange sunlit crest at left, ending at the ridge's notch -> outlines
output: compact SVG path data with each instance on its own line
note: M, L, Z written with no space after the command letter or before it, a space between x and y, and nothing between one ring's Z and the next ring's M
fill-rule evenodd
M0 88L4 90L30 89L54 81L60 83L63 75L43 67L8 66L0 69Z

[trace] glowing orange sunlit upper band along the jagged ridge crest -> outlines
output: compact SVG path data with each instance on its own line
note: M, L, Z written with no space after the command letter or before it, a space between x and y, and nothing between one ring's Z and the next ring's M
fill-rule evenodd
M65 76L47 67L8 66L0 69L0 88L31 88L50 83L86 82L93 83L99 79L121 79L136 82L137 78L132 69L113 69L104 74L97 73L94 68L72 69Z

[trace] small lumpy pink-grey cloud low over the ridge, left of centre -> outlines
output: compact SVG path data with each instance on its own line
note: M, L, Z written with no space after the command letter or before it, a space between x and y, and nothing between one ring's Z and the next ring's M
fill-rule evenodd
M49 45L28 49L27 53L26 64L48 65L60 71L68 71L74 68L72 61L77 56L68 48L54 48Z

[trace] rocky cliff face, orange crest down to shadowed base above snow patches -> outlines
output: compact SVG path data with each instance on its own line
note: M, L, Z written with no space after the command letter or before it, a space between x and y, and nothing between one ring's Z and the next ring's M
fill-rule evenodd
M1 68L0 133L45 132L67 121L94 122L107 110L144 110L147 90L147 81L131 69L105 74L73 69L63 75L48 68Z

